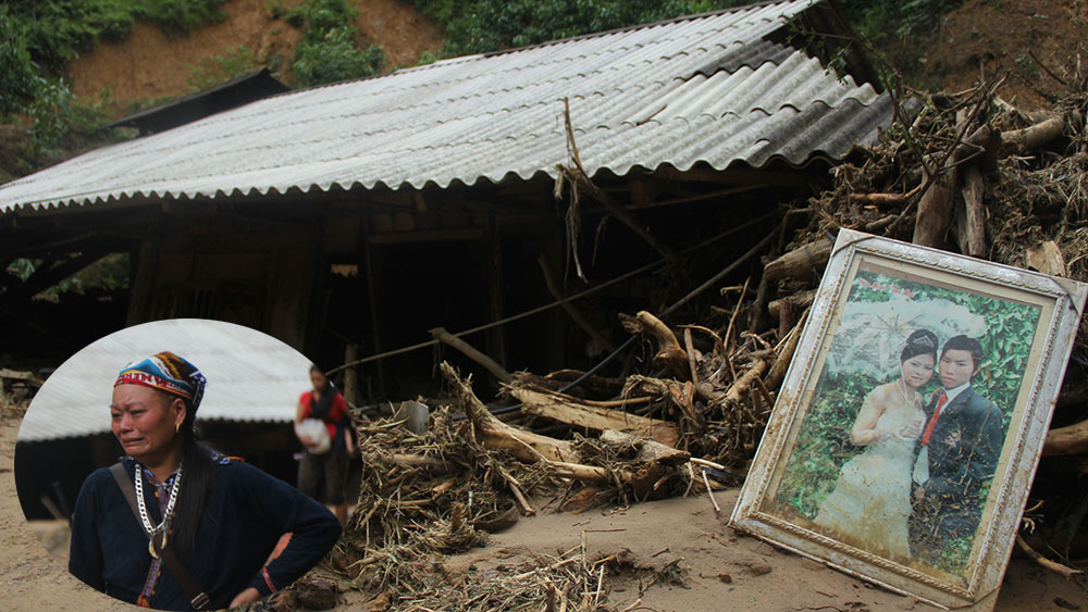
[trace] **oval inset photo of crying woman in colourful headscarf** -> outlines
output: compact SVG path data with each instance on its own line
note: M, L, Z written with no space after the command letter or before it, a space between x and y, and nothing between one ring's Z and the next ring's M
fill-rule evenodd
M256 601L347 521L343 396L260 332L182 319L87 346L35 395L15 445L27 521L79 580L159 610Z

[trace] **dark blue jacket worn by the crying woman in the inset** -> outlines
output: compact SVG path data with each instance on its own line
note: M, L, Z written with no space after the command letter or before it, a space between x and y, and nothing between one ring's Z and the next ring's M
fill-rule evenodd
M129 478L132 458L123 458ZM146 483L145 483L146 484ZM185 495L183 476L181 496ZM144 487L150 516L160 516L154 487ZM287 548L262 566L280 536L290 532ZM246 587L261 596L286 587L327 553L341 534L339 521L320 503L283 480L240 461L220 460L201 515L196 545L182 564L211 599L226 608ZM148 539L109 469L91 473L79 489L72 516L69 571L91 587L135 603L151 565ZM189 598L163 565L151 598L159 610L190 610Z

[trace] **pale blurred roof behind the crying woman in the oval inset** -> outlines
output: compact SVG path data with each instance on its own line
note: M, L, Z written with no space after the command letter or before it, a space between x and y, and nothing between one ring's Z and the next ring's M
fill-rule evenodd
M310 388L309 360L260 332L202 319L145 323L88 345L61 364L38 390L17 441L110 432L110 398L126 364L169 350L208 378L197 422L295 419L298 396Z

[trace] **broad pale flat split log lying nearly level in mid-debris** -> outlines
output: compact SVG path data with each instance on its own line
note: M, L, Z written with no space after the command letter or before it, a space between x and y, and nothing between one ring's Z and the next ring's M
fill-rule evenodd
M680 440L676 425L665 421L588 405L574 398L558 394L543 394L516 387L511 387L509 392L521 402L521 412L526 414L543 416L576 427L596 430L616 429L644 435L669 447L675 447Z

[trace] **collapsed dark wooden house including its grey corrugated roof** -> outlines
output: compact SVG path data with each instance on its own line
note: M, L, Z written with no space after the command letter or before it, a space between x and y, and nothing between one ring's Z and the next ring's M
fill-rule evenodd
M57 262L9 280L0 324L24 347L78 338L86 324L41 316L28 287L129 252L126 324L238 323L325 366L392 352L357 369L368 398L432 385L429 329L537 310L465 339L510 370L589 365L622 334L616 313L688 292L890 122L849 40L833 4L769 1L282 93L90 151L0 186L0 257ZM663 258L665 274L606 283ZM586 289L598 337L542 309Z

